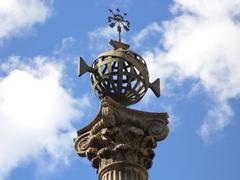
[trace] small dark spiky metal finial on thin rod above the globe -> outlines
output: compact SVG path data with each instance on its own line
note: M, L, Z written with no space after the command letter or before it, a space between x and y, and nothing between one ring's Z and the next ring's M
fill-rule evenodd
M111 28L114 28L117 26L117 31L118 31L118 37L119 37L119 42L121 42L121 32L122 28L125 29L125 31L129 31L130 28L130 22L128 20L125 20L125 16L127 16L127 13L124 13L121 15L120 10L117 8L116 12L114 13L111 9L109 9L109 12L112 14L112 16L108 17L108 23Z

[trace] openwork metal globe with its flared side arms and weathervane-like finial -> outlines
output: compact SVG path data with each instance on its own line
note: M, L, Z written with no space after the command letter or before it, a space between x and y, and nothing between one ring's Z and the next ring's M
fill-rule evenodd
M109 96L128 106L140 101L148 88L159 97L160 80L150 83L145 60L129 50L128 44L121 42L122 30L129 31L130 28L130 22L125 19L127 13L121 15L119 9L116 9L116 13L111 9L109 11L112 15L108 17L109 26L117 27L119 40L110 40L113 49L98 55L91 67L80 57L78 75L90 73L93 90L100 100Z

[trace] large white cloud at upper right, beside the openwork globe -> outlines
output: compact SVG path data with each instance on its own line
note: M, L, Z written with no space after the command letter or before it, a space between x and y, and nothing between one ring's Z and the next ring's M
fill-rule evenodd
M144 57L150 77L160 76L163 88L169 79L181 83L190 78L212 98L198 131L208 140L231 123L234 112L228 101L240 96L240 1L175 0L172 12L176 17L157 28L163 31L164 50L153 48Z

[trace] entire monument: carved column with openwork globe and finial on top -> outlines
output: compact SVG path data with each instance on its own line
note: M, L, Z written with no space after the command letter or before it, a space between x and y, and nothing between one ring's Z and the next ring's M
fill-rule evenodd
M77 131L75 152L96 168L99 180L147 180L157 142L169 132L168 113L145 112L126 106L137 103L148 88L160 96L160 81L149 82L145 60L121 42L129 31L125 16L110 10L109 26L117 27L119 40L110 40L112 50L101 53L92 66L79 60L78 75L90 72L93 90L100 99L97 116Z

